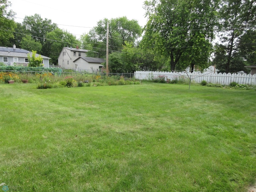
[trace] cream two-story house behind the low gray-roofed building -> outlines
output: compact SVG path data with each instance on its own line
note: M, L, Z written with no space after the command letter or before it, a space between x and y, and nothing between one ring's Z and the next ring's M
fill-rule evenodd
M64 47L58 57L58 65L65 69L75 69L73 61L80 56L86 57L88 51L86 49L79 49L78 46L76 48Z

